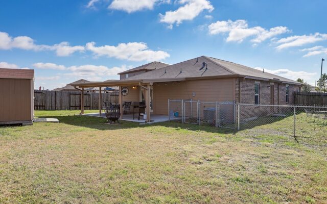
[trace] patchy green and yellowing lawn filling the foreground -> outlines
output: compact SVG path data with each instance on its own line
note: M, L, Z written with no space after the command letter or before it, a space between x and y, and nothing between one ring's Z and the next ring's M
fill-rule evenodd
M327 203L326 126L300 120L296 141L291 117L234 133L78 113L0 127L0 203Z

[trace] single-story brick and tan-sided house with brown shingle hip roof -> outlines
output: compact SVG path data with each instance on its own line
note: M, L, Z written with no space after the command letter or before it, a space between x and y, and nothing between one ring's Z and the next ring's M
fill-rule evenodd
M72 86L82 89L118 86L120 104L123 101L145 101L147 113L168 115L168 99L291 105L293 92L299 91L301 83L233 62L201 56L121 80L76 83ZM150 121L149 116L147 120Z

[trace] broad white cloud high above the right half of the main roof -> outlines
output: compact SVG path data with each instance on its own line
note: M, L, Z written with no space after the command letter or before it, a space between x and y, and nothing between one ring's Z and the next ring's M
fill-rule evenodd
M276 35L289 32L287 27L274 27L266 30L260 26L249 28L246 20L227 20L227 21L217 21L211 23L208 26L209 34L216 35L221 33L228 33L226 39L229 41L242 42L245 38L253 36L251 40L253 43L260 43L268 38L272 38Z

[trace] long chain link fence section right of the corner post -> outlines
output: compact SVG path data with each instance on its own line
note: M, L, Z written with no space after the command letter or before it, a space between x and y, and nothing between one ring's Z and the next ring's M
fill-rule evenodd
M327 125L327 107L238 105L238 130L299 136Z

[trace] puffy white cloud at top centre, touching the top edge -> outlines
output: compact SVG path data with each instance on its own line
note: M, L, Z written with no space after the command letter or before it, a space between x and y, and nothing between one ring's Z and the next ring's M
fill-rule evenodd
M175 11L167 11L165 14L159 14L160 22L176 23L178 25L184 20L193 20L204 10L208 10L209 12L214 10L214 7L207 0L179 0L178 3L183 4L183 6Z

